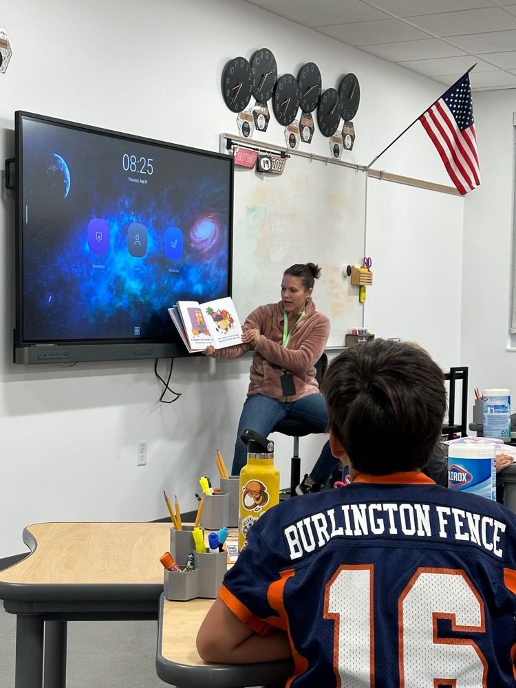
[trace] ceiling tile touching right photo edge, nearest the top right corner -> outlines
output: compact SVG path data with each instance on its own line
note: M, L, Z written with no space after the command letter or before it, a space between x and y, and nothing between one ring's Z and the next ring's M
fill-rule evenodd
M464 36L516 29L516 17L495 7L407 17L407 21L437 36Z

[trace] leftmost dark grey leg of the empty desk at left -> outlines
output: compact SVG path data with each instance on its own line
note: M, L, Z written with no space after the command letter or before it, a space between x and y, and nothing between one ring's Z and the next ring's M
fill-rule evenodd
M43 619L37 614L17 614L15 688L43 685Z

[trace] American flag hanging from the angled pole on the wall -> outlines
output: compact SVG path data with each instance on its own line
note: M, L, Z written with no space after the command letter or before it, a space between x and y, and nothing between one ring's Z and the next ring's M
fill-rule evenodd
M469 73L456 81L419 118L462 195L480 184Z

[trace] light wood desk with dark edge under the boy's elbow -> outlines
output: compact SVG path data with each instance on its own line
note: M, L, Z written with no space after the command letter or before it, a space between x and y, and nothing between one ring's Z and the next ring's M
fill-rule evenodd
M160 597L158 676L178 688L284 686L294 668L290 660L244 665L206 664L202 661L197 654L195 638L211 605L211 599L171 602L164 595Z

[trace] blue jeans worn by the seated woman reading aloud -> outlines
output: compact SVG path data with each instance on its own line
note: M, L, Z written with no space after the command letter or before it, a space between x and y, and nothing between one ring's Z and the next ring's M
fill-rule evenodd
M328 414L323 395L309 394L297 401L290 402L272 399L270 396L264 396L264 394L251 394L251 396L248 396L238 424L231 475L239 475L247 462L247 447L240 439L241 432L248 428L259 432L264 437L268 437L272 428L283 418L306 420L320 428L321 432L324 432L327 429ZM330 451L329 442L326 442L324 445L317 464L319 462L321 462L322 466L321 473L326 471L327 466L331 464L330 473L327 475L327 477L330 477L337 460ZM316 480L313 474L311 477ZM327 477L320 482L326 482ZM319 482L319 480L316 480L316 482Z

